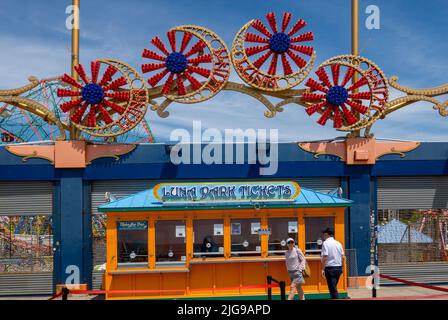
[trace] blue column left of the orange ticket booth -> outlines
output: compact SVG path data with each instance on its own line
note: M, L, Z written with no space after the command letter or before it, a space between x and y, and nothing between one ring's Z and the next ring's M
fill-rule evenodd
M91 245L89 188L83 184L83 170L61 171L55 186L54 244L55 284L90 283Z

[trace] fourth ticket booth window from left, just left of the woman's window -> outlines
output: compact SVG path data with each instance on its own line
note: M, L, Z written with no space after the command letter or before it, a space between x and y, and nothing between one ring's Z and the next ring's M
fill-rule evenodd
M230 221L230 239L232 256L260 256L261 237L260 219L232 219Z

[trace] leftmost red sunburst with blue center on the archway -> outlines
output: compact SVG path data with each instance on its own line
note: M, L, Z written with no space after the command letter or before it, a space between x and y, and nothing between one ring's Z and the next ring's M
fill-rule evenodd
M126 78L119 77L112 81L118 70L109 65L98 82L100 67L99 61L92 61L91 78L89 79L84 67L80 64L77 65L75 70L82 82L76 81L68 74L64 74L61 78L66 84L79 89L76 91L59 88L57 91L58 97L79 97L60 106L63 112L70 112L73 108L76 108L70 116L73 123L87 127L97 127L101 124L108 125L114 122L113 116L115 114L121 115L125 112L125 108L117 102L130 99L129 90L120 91L123 90L121 87L127 84ZM88 113L85 116L86 112Z

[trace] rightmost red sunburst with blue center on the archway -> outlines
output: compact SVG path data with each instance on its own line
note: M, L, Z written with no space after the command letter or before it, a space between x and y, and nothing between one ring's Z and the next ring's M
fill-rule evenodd
M346 66L347 70L339 82L339 75L341 65L338 63L326 66L331 68L332 81L330 80L325 67L319 67L316 74L320 80L308 79L305 85L314 91L320 93L305 92L302 94L303 101L315 102L312 106L306 109L308 115L313 115L316 112L322 113L317 123L324 126L328 119L333 119L333 127L341 128L343 125L351 126L359 121L355 116L358 114L366 114L369 106L363 104L364 101L371 101L372 92L367 78L351 66ZM352 83L351 79L355 74L359 74L360 78ZM350 82L350 83L349 83ZM366 88L368 91L362 88ZM356 91L355 91L356 90Z

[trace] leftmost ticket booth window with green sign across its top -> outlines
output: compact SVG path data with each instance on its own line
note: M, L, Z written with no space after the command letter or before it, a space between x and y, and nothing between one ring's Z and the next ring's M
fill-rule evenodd
M117 223L118 264L148 263L148 222L120 221Z

